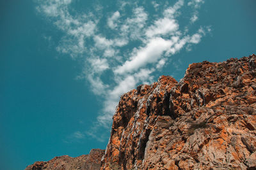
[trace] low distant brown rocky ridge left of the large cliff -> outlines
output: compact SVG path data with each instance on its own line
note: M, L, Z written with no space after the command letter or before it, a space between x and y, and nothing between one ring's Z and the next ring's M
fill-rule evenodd
M100 160L104 150L92 149L89 155L81 155L80 157L69 157L68 155L54 157L47 162L35 162L26 167L25 170L95 170L100 169Z

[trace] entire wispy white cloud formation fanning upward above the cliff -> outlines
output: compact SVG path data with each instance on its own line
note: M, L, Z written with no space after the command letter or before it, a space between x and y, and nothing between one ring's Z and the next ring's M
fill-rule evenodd
M38 0L38 11L49 18L65 34L58 52L67 53L84 63L83 72L77 78L90 83L92 92L102 98L102 111L92 131L109 127L120 96L140 83L152 83L154 74L180 52L182 48L200 43L208 27L198 26L198 31L189 31L189 26L199 18L198 8L202 0L184 3L179 0L170 5L152 1L148 5L157 11L150 15L146 6L138 2L118 2L118 8L104 16L99 8L88 13L70 13L72 0ZM180 27L182 7L191 8L186 29ZM131 14L127 15L127 9ZM162 12L157 10L163 8ZM103 26L102 26L103 24ZM104 25L105 24L105 25ZM104 31L103 31L104 30ZM104 76L108 78L104 78ZM84 138L77 131L74 138ZM96 138L96 137L95 137Z

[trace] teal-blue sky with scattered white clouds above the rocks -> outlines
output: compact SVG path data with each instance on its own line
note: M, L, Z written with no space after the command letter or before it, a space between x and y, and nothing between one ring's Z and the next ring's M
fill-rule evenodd
M255 53L254 0L0 1L0 164L108 143L119 97L192 62Z

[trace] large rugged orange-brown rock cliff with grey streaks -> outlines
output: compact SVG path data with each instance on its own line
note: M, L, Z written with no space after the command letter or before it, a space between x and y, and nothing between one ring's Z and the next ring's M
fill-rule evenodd
M256 169L256 56L121 97L100 169Z

